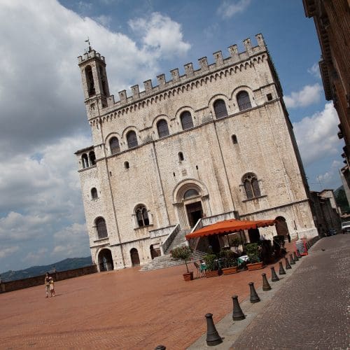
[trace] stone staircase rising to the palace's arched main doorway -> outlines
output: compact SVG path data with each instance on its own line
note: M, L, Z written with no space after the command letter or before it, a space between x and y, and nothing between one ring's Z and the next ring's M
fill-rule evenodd
M165 267L171 267L176 265L184 265L185 262L183 260L175 260L172 258L170 251L174 249L176 246L183 246L186 243L185 236L190 232L190 230L181 230L176 237L174 237L172 243L169 245L167 250L165 251L165 255L158 256L154 258L147 265L144 265L141 268L141 271L150 271L151 269L164 269ZM193 261L198 261L204 257L205 253L202 251L194 251L193 259L188 262L189 266L193 265ZM191 267L193 270L193 266Z

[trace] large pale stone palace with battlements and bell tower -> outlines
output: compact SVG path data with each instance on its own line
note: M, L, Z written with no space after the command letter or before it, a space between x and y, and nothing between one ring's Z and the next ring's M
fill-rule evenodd
M117 102L105 58L90 47L78 57L92 146L76 156L99 269L166 255L198 221L277 218L260 235L318 235L281 84L255 38L244 52L232 45L228 57L218 51L213 63L202 57L171 80L120 91Z

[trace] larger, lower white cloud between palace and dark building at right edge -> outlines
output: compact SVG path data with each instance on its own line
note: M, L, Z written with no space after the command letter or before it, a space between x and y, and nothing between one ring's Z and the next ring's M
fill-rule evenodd
M337 137L339 119L332 103L325 104L321 112L293 123L295 138L304 165L335 155L342 143Z

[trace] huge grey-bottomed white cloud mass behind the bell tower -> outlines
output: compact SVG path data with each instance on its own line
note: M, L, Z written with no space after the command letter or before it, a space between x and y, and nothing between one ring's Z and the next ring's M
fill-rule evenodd
M142 31L141 47L55 0L1 1L0 30L6 35L0 49L6 55L0 57L0 158L34 151L72 130L87 132L76 59L87 36L106 57L111 93L117 96L130 85L154 78L160 60L179 57L190 48L180 25L160 13L132 23Z

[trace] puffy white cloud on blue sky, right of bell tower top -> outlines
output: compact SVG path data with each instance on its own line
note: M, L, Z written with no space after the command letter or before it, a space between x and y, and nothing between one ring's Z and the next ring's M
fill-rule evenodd
M190 44L183 41L181 25L161 13L152 13L149 18L130 20L132 30L141 35L144 50L157 52L158 57L185 55Z

